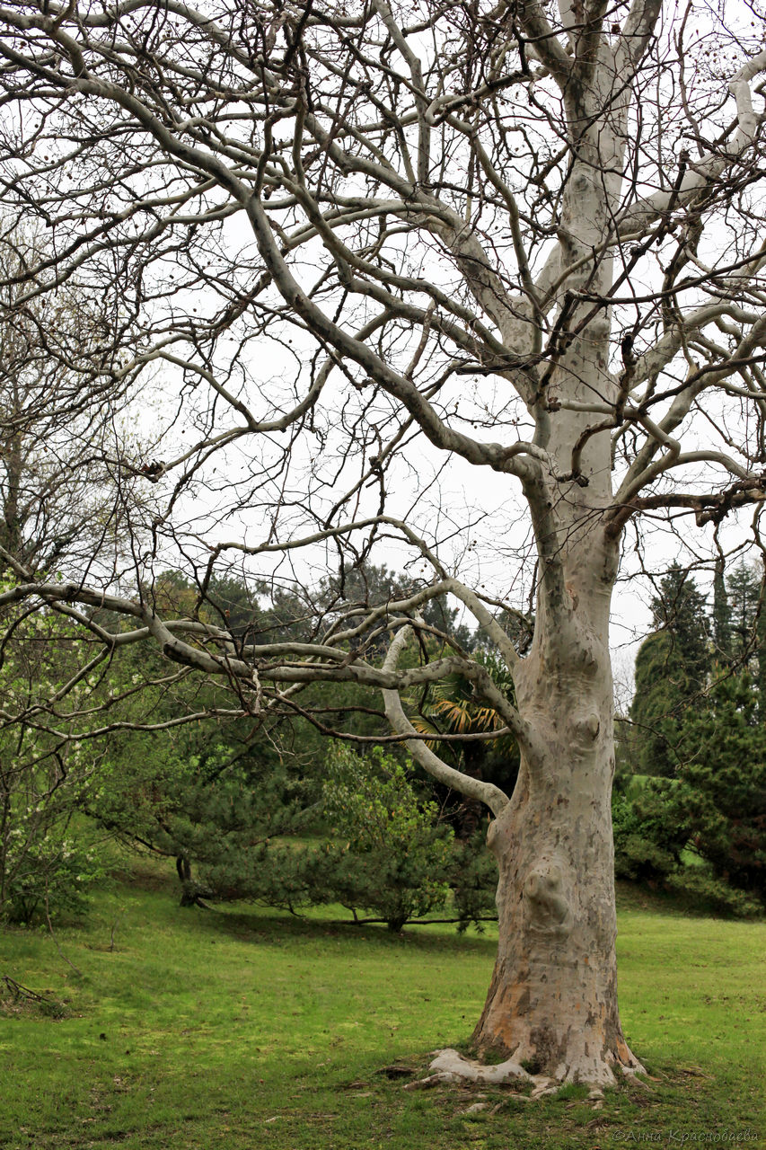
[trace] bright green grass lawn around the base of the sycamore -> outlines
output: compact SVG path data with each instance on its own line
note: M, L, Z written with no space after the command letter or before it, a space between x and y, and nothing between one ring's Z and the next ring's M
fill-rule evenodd
M46 933L0 934L0 976L67 1010L0 1013L0 1145L595 1150L723 1130L759 1144L766 926L622 902L623 1025L652 1076L597 1110L582 1088L529 1103L491 1088L409 1092L380 1073L420 1072L429 1050L469 1037L489 930L397 938L320 917L182 911L145 871L59 931L82 976ZM500 1109L467 1116L478 1095Z

